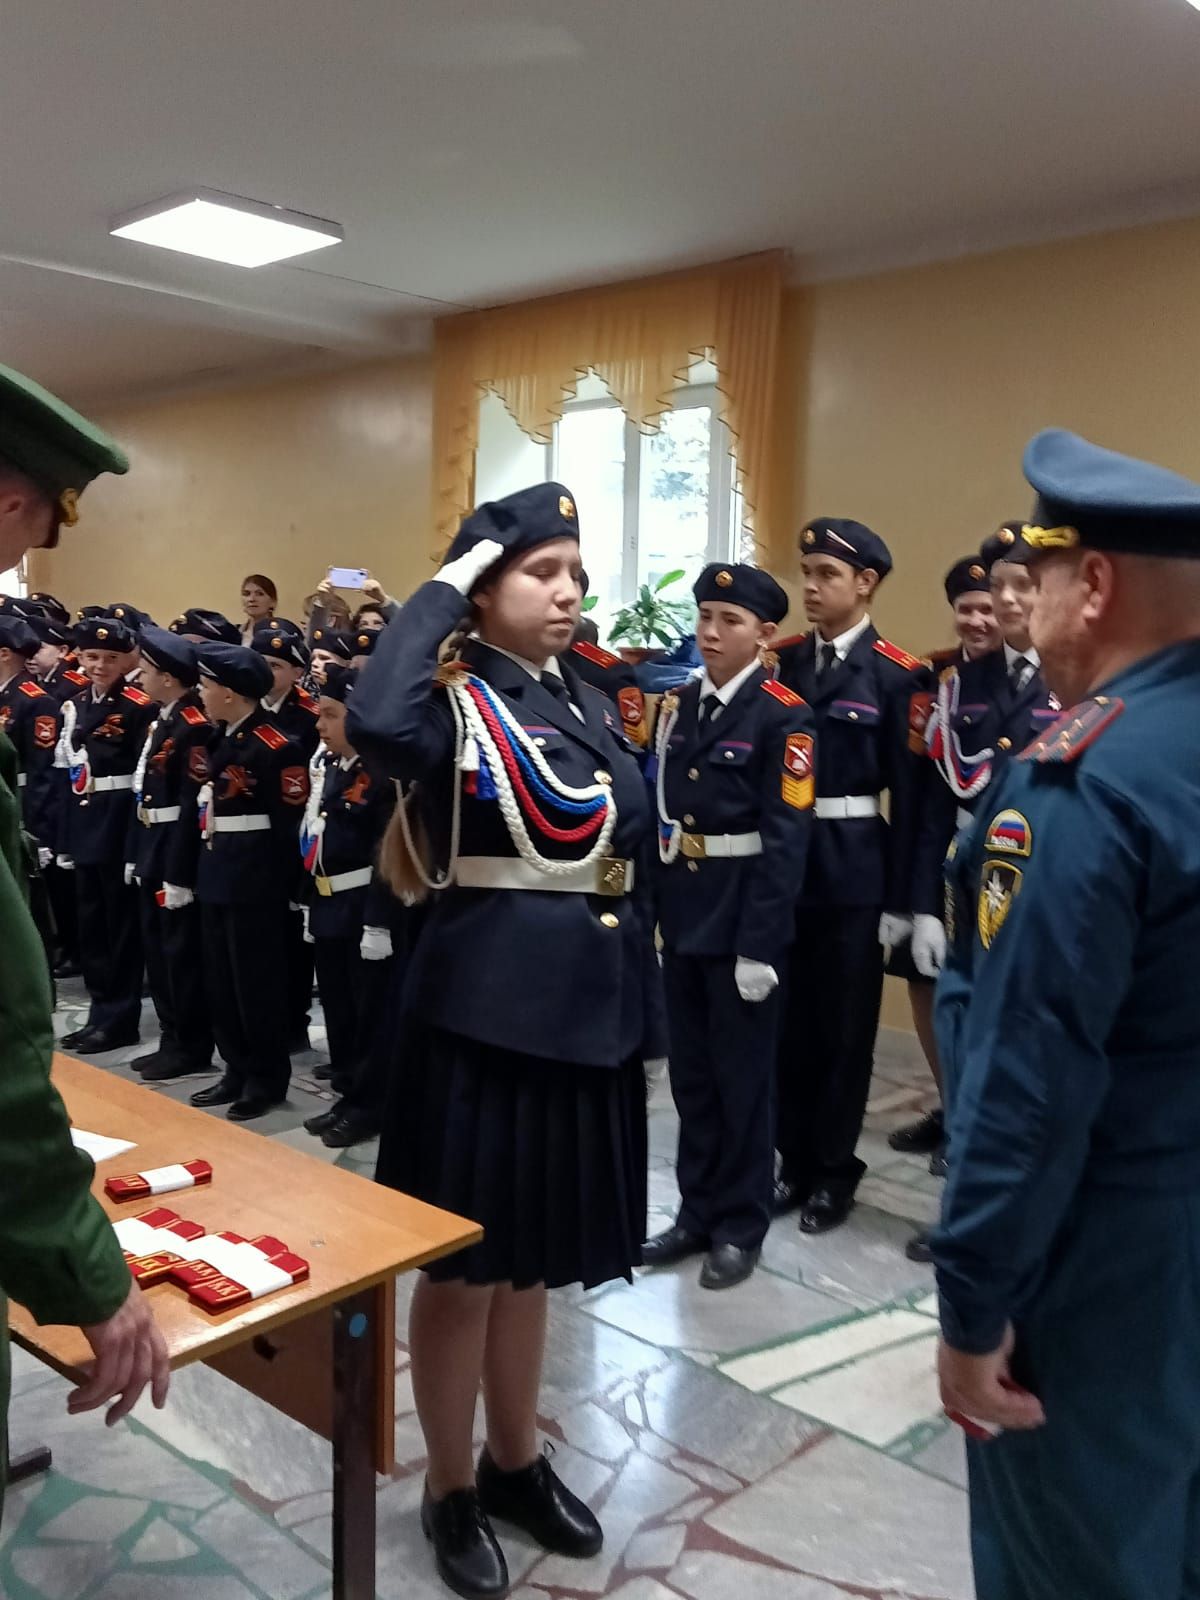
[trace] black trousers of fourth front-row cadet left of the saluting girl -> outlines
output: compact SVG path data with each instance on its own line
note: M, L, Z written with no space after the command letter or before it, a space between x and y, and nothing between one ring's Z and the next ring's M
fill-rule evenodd
M125 862L75 867L78 960L91 1008L88 1027L138 1037L142 1013L142 941L138 890Z

